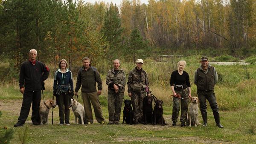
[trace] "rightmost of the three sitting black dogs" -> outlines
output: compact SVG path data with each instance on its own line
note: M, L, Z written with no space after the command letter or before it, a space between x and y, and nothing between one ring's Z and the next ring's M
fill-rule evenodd
M163 118L163 101L156 100L156 105L153 111L153 125L161 124L162 126L167 125Z

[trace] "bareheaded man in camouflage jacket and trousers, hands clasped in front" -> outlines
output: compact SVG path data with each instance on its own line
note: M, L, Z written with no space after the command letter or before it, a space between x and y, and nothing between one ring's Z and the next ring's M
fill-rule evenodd
M120 67L120 60L113 60L114 68L108 71L108 124L119 124L122 100L124 98L126 76Z

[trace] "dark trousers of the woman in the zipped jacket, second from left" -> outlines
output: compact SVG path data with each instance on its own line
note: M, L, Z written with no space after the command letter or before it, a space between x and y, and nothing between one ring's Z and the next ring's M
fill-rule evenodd
M68 92L66 94L64 92L61 92L61 95L58 95L56 98L58 101L60 124L64 124L64 115L65 115L65 122L66 124L68 124L69 117L70 117L69 106L70 106L71 96L68 94Z

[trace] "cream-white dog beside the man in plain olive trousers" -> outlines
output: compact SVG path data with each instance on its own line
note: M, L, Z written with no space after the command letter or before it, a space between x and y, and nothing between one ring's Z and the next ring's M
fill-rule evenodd
M71 107L75 115L75 123L77 124L77 118L78 118L79 124L87 124L84 107L73 98L71 99Z

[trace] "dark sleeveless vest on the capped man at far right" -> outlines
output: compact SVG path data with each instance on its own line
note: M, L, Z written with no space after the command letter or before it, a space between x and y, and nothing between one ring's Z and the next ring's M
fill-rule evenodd
M201 69L197 69L198 90L213 90L214 89L214 73L213 66L210 66L207 74Z

